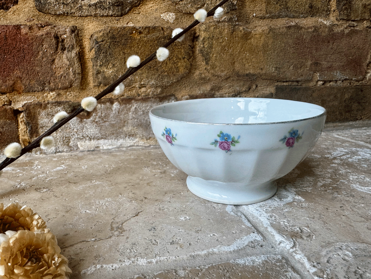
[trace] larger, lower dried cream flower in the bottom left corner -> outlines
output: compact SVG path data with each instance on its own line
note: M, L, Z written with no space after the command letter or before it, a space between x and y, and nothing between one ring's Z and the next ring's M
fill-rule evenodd
M2 278L67 279L71 273L51 232L18 231L0 245Z

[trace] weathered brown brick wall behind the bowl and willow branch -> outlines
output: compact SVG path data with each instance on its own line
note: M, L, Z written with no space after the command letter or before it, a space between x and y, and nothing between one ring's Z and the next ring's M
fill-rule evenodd
M0 148L26 145L217 0L0 0ZM316 103L328 121L371 118L369 0L230 0L65 125L52 152L155 144L148 110L201 97Z

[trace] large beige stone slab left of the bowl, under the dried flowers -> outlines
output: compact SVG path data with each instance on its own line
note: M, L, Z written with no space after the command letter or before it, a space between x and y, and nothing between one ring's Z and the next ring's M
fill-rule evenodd
M226 205L193 195L186 177L159 148L25 156L4 169L0 196L45 219L71 278L128 278L261 240Z

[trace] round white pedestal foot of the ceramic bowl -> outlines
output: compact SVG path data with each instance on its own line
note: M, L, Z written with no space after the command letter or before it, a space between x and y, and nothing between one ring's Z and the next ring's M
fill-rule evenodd
M193 176L187 177L187 187L200 198L230 205L244 205L265 201L277 191L277 183L275 181L260 185L250 185L239 182L204 180Z

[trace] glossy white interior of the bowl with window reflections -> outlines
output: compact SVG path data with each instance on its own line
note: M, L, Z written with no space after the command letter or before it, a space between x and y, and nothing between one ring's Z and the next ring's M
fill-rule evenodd
M158 118L214 124L254 124L298 121L326 112L321 106L280 99L211 98L185 100L152 108Z

